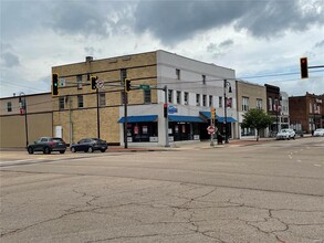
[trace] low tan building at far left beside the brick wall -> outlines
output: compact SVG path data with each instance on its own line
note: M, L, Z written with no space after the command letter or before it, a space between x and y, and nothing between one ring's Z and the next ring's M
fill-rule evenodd
M41 136L53 136L51 93L0 99L0 147L27 147Z

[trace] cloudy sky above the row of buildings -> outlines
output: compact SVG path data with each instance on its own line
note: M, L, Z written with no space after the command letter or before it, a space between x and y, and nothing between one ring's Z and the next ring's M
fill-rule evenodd
M0 0L0 97L50 92L51 67L165 50L292 95L324 93L324 0Z

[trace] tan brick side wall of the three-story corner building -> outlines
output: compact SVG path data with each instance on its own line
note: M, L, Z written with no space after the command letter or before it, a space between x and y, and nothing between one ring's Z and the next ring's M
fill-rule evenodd
M87 81L87 73L104 81L105 87L100 89L106 96L106 107L101 107L101 138L108 142L119 142L119 107L122 104L121 68L127 68L127 78L132 80L132 86L147 84L156 86L156 52L142 53L136 55L119 56L92 61L90 63L75 63L63 66L55 66L52 73L59 73L66 81L65 87L60 87L60 96L69 95L69 103L64 110L59 110L59 98L53 99L53 129L55 126L63 127L63 139L70 142L70 110L73 124L73 142L84 137L97 137L97 99L96 91L91 89L91 81ZM76 86L76 75L82 74L83 86ZM77 95L83 95L83 108L77 108ZM157 92L151 91L151 103L157 102ZM143 89L128 93L128 104L144 104Z

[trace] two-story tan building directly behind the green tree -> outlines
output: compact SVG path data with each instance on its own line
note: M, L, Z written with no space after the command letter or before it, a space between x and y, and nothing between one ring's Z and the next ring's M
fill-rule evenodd
M238 122L239 125L243 122L243 115L251 108L258 108L266 110L266 92L265 87L244 82L241 80L237 81L237 101L238 101ZM260 133L261 137L266 136L266 130L264 129ZM240 138L255 137L255 129L241 128L239 126Z

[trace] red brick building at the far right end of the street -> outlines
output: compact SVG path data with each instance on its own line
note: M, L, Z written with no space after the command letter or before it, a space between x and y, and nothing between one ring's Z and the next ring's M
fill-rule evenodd
M306 93L305 96L289 97L289 113L291 126L312 133L324 127L324 94Z

